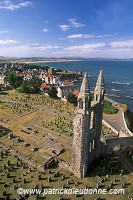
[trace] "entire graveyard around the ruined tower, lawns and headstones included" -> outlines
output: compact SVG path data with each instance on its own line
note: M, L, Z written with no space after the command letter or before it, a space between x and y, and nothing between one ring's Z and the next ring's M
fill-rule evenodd
M116 155L96 160L82 180L53 165L72 159L74 106L47 95L8 91L0 96L0 199L22 199L17 188L125 188L124 195L89 195L94 199L133 198L133 176ZM102 137L117 135L102 125ZM132 152L123 153L132 163ZM23 199L79 199L87 195L31 195Z

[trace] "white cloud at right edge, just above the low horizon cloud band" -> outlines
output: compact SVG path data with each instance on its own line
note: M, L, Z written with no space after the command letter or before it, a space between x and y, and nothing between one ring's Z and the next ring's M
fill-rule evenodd
M131 40L121 40L121 41L114 41L114 42L110 42L109 45L112 48L123 48L123 47L133 47L133 39Z

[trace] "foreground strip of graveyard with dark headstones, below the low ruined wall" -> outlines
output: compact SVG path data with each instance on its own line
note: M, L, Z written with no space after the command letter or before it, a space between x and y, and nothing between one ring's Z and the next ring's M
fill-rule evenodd
M9 150L0 147L0 199L22 199L17 195L18 188L125 188L124 195L100 195L100 199L128 199L132 193L133 177L128 175L115 156L108 156L96 161L92 166L88 178L79 180L71 172L53 166L50 169L39 171L12 155ZM129 177L130 176L130 177ZM89 199L96 199L98 195L89 195ZM30 195L25 199L60 199L60 195ZM88 199L87 195L62 195L61 199Z

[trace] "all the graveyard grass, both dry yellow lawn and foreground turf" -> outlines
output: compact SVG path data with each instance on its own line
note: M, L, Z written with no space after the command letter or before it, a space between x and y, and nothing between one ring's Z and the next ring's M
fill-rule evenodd
M70 131L68 130L68 127L70 129L73 129L72 121L68 119L67 117L62 116L66 115L70 118L73 118L74 116L74 107L71 104L68 104L66 102L62 102L60 100L53 100L50 99L48 96L45 95L27 95L27 94L20 94L15 91L8 91L8 94L5 95L6 98L9 98L12 102L19 102L20 106L28 104L31 105L31 107L38 106L37 111L33 113L27 112L27 107L26 110L24 111L26 113L25 116L20 116L19 113L14 113L12 114L12 109L9 108L0 108L0 117L6 118L9 120L13 120L11 123L4 123L1 122L1 128L0 130L3 131L3 129L7 129L8 132L12 131L15 137L20 137L21 142L16 143L16 138L13 138L11 140L8 139L8 137L5 135L3 137L0 137L0 142L3 142L6 144L6 146L12 146L13 149L18 150L21 152L23 155L30 156L32 160L37 161L38 163L42 164L44 163L47 158L42 157L41 153L47 153L48 155L51 154L51 147L48 147L47 149L45 148L40 148L36 152L31 151L31 148L37 147L40 144L44 143L47 141L49 138L53 139L55 141L54 145L62 145L64 148L64 152L61 153L58 157L61 160L64 160L68 163L71 162L72 158L72 151L69 146L72 144L72 137L69 135ZM1 106L7 104L5 99L0 96L0 101L1 101ZM58 112L59 111L59 112ZM61 113L60 113L61 112ZM43 122L42 122L43 121ZM43 125L44 124L44 125ZM49 124L49 125L48 125ZM57 127L58 124L58 127ZM30 128L30 134L23 133L21 130L25 130L25 128ZM47 127L46 130L44 128ZM63 129L63 131L62 131ZM106 137L110 136L116 136L115 133L110 133L109 128L106 126L102 126L103 129L103 135ZM36 134L33 133L33 130L36 131ZM54 133L51 133L50 130L56 131L60 133L60 137ZM67 138L62 137L62 136L67 136ZM31 138L36 139L36 141L32 141ZM15 143L15 146L13 145L13 142ZM24 143L27 142L29 143L29 147L24 147ZM0 148L0 151L2 148ZM3 191L7 191L7 193L11 194L10 198L13 199L15 198L16 195L16 190L13 190L13 183L12 183L12 178L7 178L6 177L6 172L7 169L3 169L3 165L7 165L7 160L10 159L11 163L14 164L17 161L17 158L15 158L13 155L9 154L8 156L4 156L3 159L0 159L0 166L2 166L2 181L5 183L9 184L9 187L4 187L4 184L0 183L0 199L4 198L3 197ZM102 172L101 168L105 166L106 169L104 173ZM40 172L37 169L33 169L30 174L26 174L26 171L28 168L23 169L22 167L18 167L16 169L13 169L11 172L12 176L16 176L17 180L20 178L20 182L17 182L16 185L24 188L32 188L35 185L39 185L41 187L41 184L46 187L46 188L61 188L63 184L65 186L67 185L66 182L68 179L70 179L70 185L67 187L73 187L73 188L85 188L85 185L89 186L90 188L94 188L97 184L95 180L95 176L97 174L100 174L102 178L105 177L107 173L110 173L111 167L114 168L114 172L110 177L108 178L109 180L105 182L104 186L101 185L101 187L106 188L111 181L114 180L114 177L116 177L119 181L114 185L114 188L120 188L121 184L126 180L126 182L129 184L126 186L126 192L125 195L101 195L102 198L106 198L111 200L111 199L116 199L116 200L126 200L128 193L132 193L133 191L133 177L126 172L124 173L123 176L120 176L120 169L122 168L121 163L119 162L119 159L116 157L109 157L106 161L103 161L102 163L100 161L96 162L96 166L94 169L90 170L90 176L87 178L84 178L82 180L79 180L77 177L73 176L70 172L60 169L60 175L58 177L54 177L54 173L59 170L59 167L54 166L51 171L52 173L49 174L48 170L45 172L45 174L42 174L43 179L41 181L38 180L38 175ZM22 173L25 173L25 177L22 177ZM61 174L65 175L65 179L61 180ZM52 182L48 183L47 179L48 176L52 177ZM26 178L26 180L29 180L28 183L23 183L23 179ZM77 181L81 182L81 184L77 184ZM90 200L94 200L98 195L89 195ZM45 195L43 197L40 195L40 198L42 199L47 199L47 200L56 200L59 199L59 195ZM75 199L74 195L63 195L63 198L67 199ZM77 197L77 199L83 198ZM88 196L84 197L86 200L88 200ZM34 200L36 199L35 195L30 196L28 199Z

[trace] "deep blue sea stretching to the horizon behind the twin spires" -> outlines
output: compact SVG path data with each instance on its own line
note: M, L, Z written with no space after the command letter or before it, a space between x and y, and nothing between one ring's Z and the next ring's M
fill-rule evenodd
M113 100L125 103L133 111L133 61L127 60L78 60L64 62L38 62L38 65L48 65L56 69L87 72L90 89L94 90L98 74L103 71L107 94L114 94L125 98ZM76 83L76 82L75 82ZM77 84L81 84L78 82ZM128 99L132 98L132 99Z

